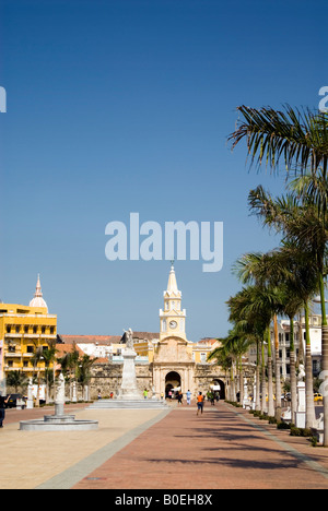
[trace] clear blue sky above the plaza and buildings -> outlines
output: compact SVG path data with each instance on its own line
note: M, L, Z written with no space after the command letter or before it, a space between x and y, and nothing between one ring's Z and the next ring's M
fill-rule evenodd
M105 226L224 223L224 265L177 261L187 335L223 336L231 266L278 239L249 217L257 174L227 135L242 104L317 108L327 2L1 0L0 297L37 273L62 334L159 331L168 261L105 258Z

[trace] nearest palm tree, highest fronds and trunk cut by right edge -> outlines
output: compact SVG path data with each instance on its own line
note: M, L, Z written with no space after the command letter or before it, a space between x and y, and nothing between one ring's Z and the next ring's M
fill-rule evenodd
M328 116L309 109L293 109L286 105L282 111L271 107L261 109L241 106L242 116L236 130L230 135L233 148L244 139L247 142L251 164L258 168L265 163L274 173L283 162L285 170L298 169L302 175L309 173L312 185L307 188L326 222L327 170L328 170ZM323 214L324 213L324 214ZM321 369L324 387L328 380L328 325L326 320L324 280L319 277L321 297ZM324 395L324 413L328 417L328 395ZM325 420L324 445L328 447L328 418Z

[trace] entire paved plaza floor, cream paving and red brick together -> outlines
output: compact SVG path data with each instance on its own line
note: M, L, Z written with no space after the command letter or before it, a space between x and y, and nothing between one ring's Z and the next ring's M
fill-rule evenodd
M17 431L8 414L0 488L328 488L327 449L225 403L207 405L202 416L186 405L168 414L78 413L97 418L99 430Z

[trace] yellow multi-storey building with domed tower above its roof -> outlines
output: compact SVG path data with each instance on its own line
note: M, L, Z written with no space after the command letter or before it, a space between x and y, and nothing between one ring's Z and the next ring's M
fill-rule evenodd
M38 276L28 306L0 304L0 379L14 370L32 377L36 348L48 349L49 343L56 338L57 316L48 312ZM40 361L37 369L43 371L45 364Z

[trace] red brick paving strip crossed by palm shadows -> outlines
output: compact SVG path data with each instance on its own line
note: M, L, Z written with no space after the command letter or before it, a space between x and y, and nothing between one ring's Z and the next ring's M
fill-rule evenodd
M281 442L306 455L307 461L311 456L327 473L320 474ZM327 451L225 403L214 408L207 405L202 416L196 416L194 407L185 407L173 411L74 488L327 489Z

